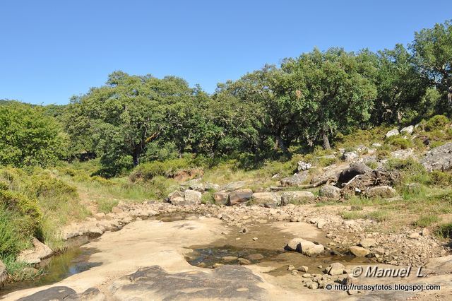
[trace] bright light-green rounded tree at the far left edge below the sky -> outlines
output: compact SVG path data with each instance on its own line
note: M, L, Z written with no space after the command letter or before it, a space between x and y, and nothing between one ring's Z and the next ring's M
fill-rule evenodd
M0 106L0 165L53 165L64 157L67 138L41 107Z

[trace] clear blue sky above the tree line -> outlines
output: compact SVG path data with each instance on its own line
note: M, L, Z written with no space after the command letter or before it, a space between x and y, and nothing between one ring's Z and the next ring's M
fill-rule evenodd
M212 93L313 47L390 48L452 18L451 1L0 2L0 99L64 104L114 70Z

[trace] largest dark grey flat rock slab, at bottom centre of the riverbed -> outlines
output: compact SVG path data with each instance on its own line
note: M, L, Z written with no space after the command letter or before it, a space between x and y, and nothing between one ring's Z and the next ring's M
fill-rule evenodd
M262 280L244 266L225 265L211 273L167 273L160 266L141 268L110 287L117 300L263 300Z

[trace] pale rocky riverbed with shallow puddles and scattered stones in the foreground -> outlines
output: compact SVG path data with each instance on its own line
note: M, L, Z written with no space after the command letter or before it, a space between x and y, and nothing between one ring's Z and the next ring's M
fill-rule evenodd
M97 215L62 231L66 238L102 234L82 247L96 250L87 260L96 264L52 285L18 290L4 298L299 300L315 297L329 300L339 295L359 299L367 296L374 300L379 295L364 291L331 293L324 289L328 284L350 281L350 273L356 266L372 265L423 266L429 278L422 278L422 282L443 283L440 293L450 293L451 285L447 281L452 276L439 267L450 266L452 258L447 256L448 249L428 231L372 232L375 222L343 220L333 211L334 208L326 212L312 205L263 208L121 203L114 213ZM304 252L306 245L321 246L322 250L319 254L309 254ZM213 261L189 263L196 257L197 249L216 250L225 246L248 251L244 255L226 252L214 256ZM261 250L272 255L267 256ZM174 278L179 281L174 282ZM417 278L352 279L354 283L372 280L420 281ZM438 292L398 292L386 297L417 295L428 300L432 293Z

